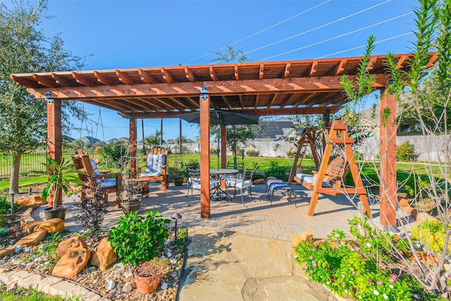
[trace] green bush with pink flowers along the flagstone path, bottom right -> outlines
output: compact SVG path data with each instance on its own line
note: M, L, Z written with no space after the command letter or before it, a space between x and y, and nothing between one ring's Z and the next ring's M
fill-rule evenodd
M420 283L401 266L390 262L390 242L404 244L366 221L350 220L355 241L344 240L345 233L334 230L328 240L301 242L295 247L296 262L311 280L326 285L340 297L357 300L441 300L424 292ZM374 256L375 249L378 256ZM391 264L393 263L393 264Z

